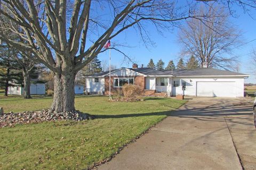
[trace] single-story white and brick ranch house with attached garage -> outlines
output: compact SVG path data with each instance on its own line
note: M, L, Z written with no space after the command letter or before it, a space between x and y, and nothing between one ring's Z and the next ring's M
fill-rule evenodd
M248 75L213 68L158 71L151 68L120 68L111 71L111 94L126 83L138 85L142 95L244 96L244 78ZM91 93L109 94L109 72L86 78Z

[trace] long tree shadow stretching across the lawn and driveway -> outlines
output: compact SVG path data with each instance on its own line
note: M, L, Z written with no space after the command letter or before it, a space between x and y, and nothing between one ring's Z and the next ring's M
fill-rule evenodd
M182 109L170 110L162 112L149 112L145 114L122 114L122 115L93 115L95 118L127 118L127 117L141 117L141 116L161 116L179 117L179 118L193 118L204 122L231 122L244 125L253 124L253 114L251 106L220 106L219 104L212 104L208 107L193 108L187 107L186 104ZM241 117L251 115L250 118ZM232 119L234 118L234 119ZM246 121L244 121L246 120Z

